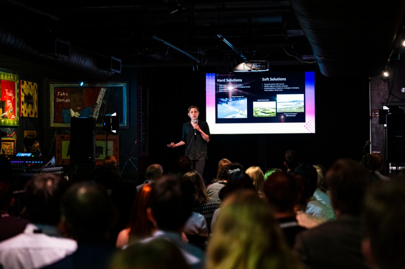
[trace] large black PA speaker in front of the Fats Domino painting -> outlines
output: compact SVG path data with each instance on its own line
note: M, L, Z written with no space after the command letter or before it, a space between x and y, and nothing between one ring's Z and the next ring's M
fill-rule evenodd
M70 120L70 163L96 162L96 119L72 117Z

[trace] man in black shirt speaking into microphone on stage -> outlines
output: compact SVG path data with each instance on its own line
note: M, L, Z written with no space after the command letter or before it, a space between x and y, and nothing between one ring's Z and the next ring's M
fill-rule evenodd
M190 120L183 124L182 139L178 143L170 143L169 148L186 145L185 156L193 161L194 169L203 176L207 154L207 145L210 142L210 127L206 121L198 119L198 107L190 106L187 115Z

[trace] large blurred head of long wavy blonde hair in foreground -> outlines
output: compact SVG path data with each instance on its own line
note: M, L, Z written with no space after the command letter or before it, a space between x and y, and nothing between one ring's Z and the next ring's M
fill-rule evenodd
M207 269L302 268L255 189L229 194L207 246Z

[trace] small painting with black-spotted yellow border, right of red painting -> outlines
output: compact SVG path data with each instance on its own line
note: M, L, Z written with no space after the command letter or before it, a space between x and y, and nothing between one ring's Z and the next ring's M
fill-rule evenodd
M38 117L38 84L20 80L20 117Z

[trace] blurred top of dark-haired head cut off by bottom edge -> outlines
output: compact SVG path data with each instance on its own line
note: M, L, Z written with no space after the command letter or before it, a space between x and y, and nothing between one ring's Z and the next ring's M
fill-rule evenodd
M171 241L154 239L147 243L135 242L116 251L109 269L189 269L182 252Z

